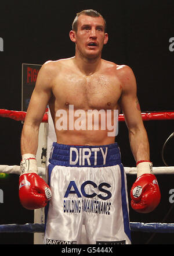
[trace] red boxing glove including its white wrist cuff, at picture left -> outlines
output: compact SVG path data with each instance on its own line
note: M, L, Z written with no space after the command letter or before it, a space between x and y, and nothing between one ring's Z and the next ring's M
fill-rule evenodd
M21 161L19 198L21 204L28 210L45 207L51 199L48 184L37 174L37 162L34 157Z

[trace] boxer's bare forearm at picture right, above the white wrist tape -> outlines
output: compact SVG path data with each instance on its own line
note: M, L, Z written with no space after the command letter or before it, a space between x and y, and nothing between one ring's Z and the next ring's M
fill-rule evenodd
M150 160L150 150L145 128L129 131L129 141L135 161Z

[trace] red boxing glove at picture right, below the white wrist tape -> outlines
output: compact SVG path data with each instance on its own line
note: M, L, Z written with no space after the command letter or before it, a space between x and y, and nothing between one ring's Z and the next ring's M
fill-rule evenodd
M152 212L160 203L161 194L154 174L139 176L131 188L131 206L136 212Z

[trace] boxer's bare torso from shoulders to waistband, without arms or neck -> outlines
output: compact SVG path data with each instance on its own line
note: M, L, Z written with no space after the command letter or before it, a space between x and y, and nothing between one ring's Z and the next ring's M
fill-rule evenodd
M53 64L54 65L54 64ZM52 92L49 107L52 114L53 122L56 117L57 110L66 110L67 117L69 106L74 106L76 110L84 110L86 112L86 129L73 131L55 129L59 143L66 144L88 144L104 145L114 142L114 137L107 136L108 130L99 129L88 130L88 110L119 110L118 100L121 96L121 82L115 76L117 65L102 60L99 70L92 75L85 76L78 71L74 64L74 58L63 59L55 63L57 76L53 80ZM74 122L78 117L74 117ZM69 119L69 118L67 118Z

